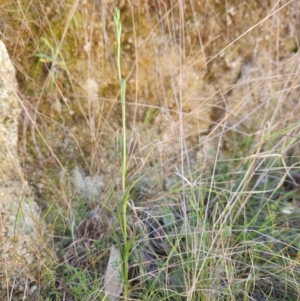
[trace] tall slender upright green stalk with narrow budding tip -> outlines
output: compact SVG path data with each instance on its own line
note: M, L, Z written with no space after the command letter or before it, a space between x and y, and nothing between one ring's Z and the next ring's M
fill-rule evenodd
M124 289L123 296L124 299L128 299L128 259L129 259L129 251L130 251L130 242L128 242L128 234L127 234L127 201L128 201L128 192L126 192L126 81L122 78L121 74L121 33L122 33L122 23L120 21L120 11L115 8L114 11L114 24L116 28L116 65L118 72L118 80L120 83L120 96L121 96L121 106L122 106L122 156L121 156L121 165L122 165L122 209L121 209L121 229L124 239L124 247L121 252L123 264L122 264L122 278L124 281ZM121 245L119 246L119 248Z

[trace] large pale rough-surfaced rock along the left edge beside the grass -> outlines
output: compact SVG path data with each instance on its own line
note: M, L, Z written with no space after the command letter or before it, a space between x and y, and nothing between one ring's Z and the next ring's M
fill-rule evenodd
M36 300L44 235L18 158L17 88L14 66L0 41L0 299Z

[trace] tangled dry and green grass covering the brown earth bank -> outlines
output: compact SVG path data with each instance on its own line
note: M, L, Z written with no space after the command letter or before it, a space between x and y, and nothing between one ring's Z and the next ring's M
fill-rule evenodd
M0 8L22 94L20 157L53 235L41 300L101 299L120 233L114 3ZM299 196L281 186L299 161L298 1L120 9L127 185L143 175L128 211L132 298L298 300Z

